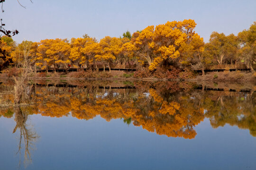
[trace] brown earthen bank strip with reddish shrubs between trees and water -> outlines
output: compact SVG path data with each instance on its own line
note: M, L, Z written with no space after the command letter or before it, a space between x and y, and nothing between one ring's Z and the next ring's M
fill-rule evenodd
M18 76L17 72L3 71L0 74L0 78L12 78ZM49 79L49 80L143 80L143 81L206 81L206 82L255 82L256 76L247 71L223 71L223 72L207 72L204 76L198 73L192 73L191 71L155 71L154 73L148 71L79 71L79 72L41 72L30 73L29 79Z

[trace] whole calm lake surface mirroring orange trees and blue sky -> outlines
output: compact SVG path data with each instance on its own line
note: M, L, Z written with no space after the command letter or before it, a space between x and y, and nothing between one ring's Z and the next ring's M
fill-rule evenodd
M256 170L254 85L0 84L0 170ZM29 105L26 105L29 104Z

